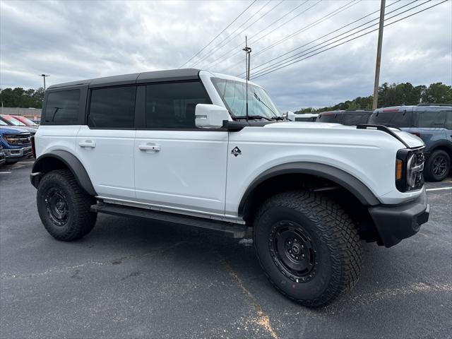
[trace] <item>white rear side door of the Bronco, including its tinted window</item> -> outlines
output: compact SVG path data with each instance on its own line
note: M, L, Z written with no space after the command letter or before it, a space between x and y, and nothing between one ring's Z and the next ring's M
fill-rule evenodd
M136 85L94 88L87 124L81 126L76 154L98 196L133 200L133 141Z

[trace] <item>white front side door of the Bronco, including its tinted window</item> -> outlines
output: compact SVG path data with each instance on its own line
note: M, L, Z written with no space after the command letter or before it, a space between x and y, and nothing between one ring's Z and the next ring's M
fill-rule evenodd
M196 104L210 104L200 81L138 88L135 187L138 201L164 210L224 214L225 130L198 129Z

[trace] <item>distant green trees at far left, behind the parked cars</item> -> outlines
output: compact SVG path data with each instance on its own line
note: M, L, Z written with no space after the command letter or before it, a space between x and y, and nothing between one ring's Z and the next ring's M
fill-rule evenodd
M1 90L0 101L4 107L42 108L44 100L44 88L24 90L21 87L5 88Z

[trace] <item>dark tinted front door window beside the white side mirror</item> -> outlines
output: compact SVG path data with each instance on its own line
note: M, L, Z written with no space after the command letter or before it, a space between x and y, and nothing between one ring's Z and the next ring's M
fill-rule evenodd
M198 81L155 83L146 86L146 127L194 129L196 104L210 104Z

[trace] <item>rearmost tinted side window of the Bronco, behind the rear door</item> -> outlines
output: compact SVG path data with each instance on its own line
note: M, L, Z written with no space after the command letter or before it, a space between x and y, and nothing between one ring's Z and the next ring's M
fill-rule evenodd
M47 95L44 121L59 124L78 124L80 106L80 90L62 90Z

